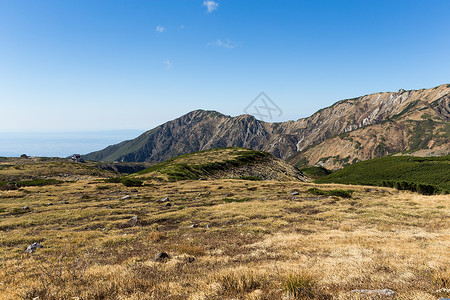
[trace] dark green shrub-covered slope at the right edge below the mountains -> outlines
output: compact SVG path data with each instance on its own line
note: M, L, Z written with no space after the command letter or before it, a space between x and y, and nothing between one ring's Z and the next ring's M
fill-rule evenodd
M316 180L316 183L331 182L389 186L423 194L450 193L450 155L380 157Z

